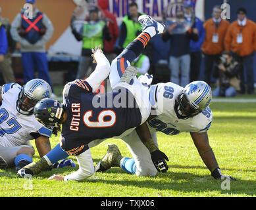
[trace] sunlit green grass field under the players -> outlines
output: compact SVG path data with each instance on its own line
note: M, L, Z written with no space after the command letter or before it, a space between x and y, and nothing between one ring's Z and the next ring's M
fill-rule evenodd
M43 172L32 180L19 179L14 169L0 170L0 196L256 196L256 104L211 104L214 118L209 130L209 142L224 175L236 177L230 190L222 190L223 180L211 177L199 157L189 133L169 137L158 133L159 147L168 156L168 172L156 177L136 177L120 168L107 173L95 173L83 182L57 182L47 180L55 174L66 175L77 170L66 167ZM51 146L59 138L51 138ZM131 157L122 140L109 139L91 149L96 164L115 143L123 156ZM34 144L34 141L32 141ZM74 161L76 162L75 158ZM34 161L39 160L38 152ZM77 162L76 162L77 163Z

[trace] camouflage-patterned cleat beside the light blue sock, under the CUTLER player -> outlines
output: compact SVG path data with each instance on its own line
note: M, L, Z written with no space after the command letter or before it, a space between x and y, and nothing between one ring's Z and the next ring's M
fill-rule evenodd
M111 167L119 167L122 155L116 144L109 145L105 156L97 163L95 172L107 171Z

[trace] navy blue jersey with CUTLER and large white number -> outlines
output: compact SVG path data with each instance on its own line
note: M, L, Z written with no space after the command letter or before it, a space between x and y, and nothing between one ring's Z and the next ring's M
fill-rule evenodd
M70 155L80 154L92 140L117 137L141 123L140 108L124 87L95 95L82 79L68 83L63 91L68 116L61 133L62 148Z

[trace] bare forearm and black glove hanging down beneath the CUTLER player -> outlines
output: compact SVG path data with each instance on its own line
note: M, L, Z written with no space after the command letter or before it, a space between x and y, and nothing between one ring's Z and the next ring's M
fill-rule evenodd
M146 123L143 123L139 127L136 128L136 132L140 137L141 142L147 147L151 154L151 159L157 169L157 171L166 173L168 170L168 165L165 160L169 161L165 153L161 152L159 148L155 145L151 134L149 132L149 128Z

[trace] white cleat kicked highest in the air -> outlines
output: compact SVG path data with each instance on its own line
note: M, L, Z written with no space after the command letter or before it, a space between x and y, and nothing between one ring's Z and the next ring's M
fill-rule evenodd
M139 16L138 21L140 22L143 31L148 27L154 27L156 34L160 34L165 31L165 25L155 21L149 15L143 14Z

